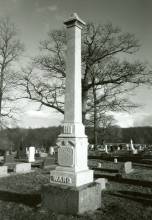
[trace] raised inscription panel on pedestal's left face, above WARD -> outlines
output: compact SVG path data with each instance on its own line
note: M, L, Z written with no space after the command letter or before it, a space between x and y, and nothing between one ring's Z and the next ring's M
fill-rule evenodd
M74 165L74 149L73 147L60 147L58 149L58 163L60 166Z

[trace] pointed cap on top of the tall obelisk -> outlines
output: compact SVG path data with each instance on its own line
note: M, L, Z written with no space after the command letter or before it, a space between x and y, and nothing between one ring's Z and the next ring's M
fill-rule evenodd
M73 14L71 15L71 17L64 22L64 24L65 24L67 27L68 27L68 26L73 26L73 25L78 25L78 26L81 27L81 26L84 26L86 23L79 18L79 16L77 15L77 13L73 13Z

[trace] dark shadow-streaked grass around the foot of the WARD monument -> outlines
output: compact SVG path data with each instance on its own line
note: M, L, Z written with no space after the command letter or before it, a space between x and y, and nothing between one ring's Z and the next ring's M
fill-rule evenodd
M126 181L120 176L109 176L107 188L101 194L101 209L77 216L57 215L41 207L41 186L49 183L49 171L48 168L33 168L33 172L27 174L0 178L0 220L152 219L150 168L136 165L132 173L123 176Z

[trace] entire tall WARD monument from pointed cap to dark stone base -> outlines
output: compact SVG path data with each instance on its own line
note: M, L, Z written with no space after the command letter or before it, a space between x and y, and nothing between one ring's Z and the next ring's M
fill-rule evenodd
M56 143L58 166L50 172L50 184L42 188L42 205L55 212L77 214L100 208L101 189L88 168L88 138L82 124L81 29L85 23L74 13L64 24L67 71L63 133Z

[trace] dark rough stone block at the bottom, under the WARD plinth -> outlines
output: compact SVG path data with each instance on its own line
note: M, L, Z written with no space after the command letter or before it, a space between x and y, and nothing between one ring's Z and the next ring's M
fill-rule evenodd
M42 186L42 207L61 214L82 214L101 207L101 187L93 182L80 187Z

